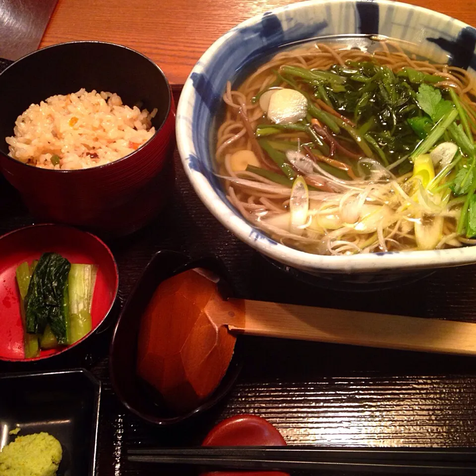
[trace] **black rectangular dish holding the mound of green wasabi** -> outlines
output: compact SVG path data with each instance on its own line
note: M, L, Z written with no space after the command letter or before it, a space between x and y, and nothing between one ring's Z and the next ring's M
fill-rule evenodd
M95 476L101 384L87 370L0 376L0 444L45 431L61 443L58 476Z

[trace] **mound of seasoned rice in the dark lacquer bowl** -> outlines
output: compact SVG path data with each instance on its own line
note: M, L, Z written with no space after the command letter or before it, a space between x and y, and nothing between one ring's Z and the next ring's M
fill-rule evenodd
M46 169L85 169L130 154L154 134L157 113L123 105L116 93L85 89L32 104L6 137L9 155ZM53 162L52 162L53 159Z

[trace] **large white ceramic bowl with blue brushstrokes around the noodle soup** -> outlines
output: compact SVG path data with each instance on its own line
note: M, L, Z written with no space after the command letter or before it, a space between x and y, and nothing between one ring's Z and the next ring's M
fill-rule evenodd
M392 274L475 263L476 246L354 256L298 251L242 218L213 174L215 119L223 111L228 80L282 47L339 35L358 46L377 34L417 44L418 53L431 60L476 69L476 29L425 8L387 0L311 0L277 8L219 38L187 78L177 109L177 142L185 172L203 203L238 238L276 261L309 273Z

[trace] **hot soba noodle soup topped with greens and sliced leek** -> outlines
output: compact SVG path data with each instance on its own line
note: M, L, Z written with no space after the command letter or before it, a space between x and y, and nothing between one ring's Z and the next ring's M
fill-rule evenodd
M466 70L315 44L228 83L217 173L272 238L341 255L475 244L476 90Z

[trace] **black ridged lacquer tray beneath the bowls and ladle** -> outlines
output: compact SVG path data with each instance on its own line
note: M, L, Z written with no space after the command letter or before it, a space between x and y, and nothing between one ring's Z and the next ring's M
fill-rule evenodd
M167 209L135 235L107 240L120 274L109 328L61 359L0 365L0 372L83 366L101 380L98 475L195 474L128 463L126 450L137 444L199 444L216 422L241 413L264 416L288 444L476 446L476 360L471 357L243 338L243 370L219 407L166 428L128 413L111 389L109 342L121 305L160 249L191 257L217 254L239 297L476 322L476 266L438 270L419 281L409 277L408 284L365 293L297 280L223 228L195 195L177 152L174 160L177 179ZM17 192L0 177L0 233L31 223Z

